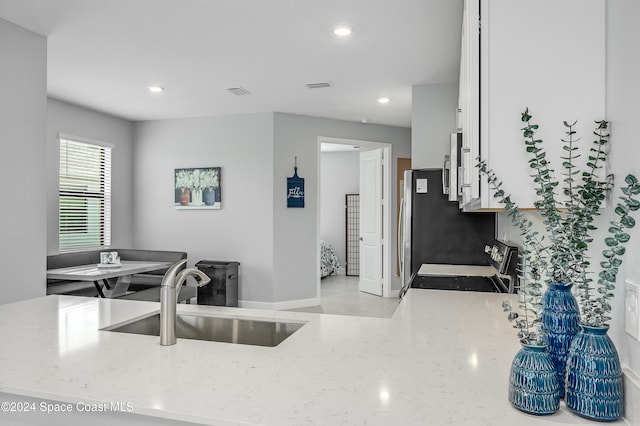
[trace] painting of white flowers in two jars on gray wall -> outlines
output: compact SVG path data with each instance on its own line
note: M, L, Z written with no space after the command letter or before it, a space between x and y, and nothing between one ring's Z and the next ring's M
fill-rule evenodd
M220 209L221 176L220 167L175 169L175 208Z

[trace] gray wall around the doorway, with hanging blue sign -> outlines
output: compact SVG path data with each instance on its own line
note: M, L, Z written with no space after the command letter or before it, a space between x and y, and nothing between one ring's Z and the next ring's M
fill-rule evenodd
M398 157L408 157L411 130L402 127L360 124L293 114L276 113L274 127L274 259L273 301L305 300L317 295L318 259L318 137L386 142L392 144L391 175L396 175ZM294 157L298 174L305 178L305 208L288 209L286 178L293 174ZM395 245L396 190L391 194L393 217L391 243ZM395 250L392 250L395 262ZM392 274L392 288L400 288Z

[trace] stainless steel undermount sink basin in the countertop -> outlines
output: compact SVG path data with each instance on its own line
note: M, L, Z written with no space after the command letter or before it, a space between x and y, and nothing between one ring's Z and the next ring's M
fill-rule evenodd
M304 324L305 322L178 314L176 337L274 347L282 343ZM101 330L160 336L160 314L151 314L125 323L111 325Z

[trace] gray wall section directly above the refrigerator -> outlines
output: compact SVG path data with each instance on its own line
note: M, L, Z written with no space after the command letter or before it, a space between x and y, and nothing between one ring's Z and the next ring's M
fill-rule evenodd
M456 130L458 83L413 86L411 97L411 167L441 169Z

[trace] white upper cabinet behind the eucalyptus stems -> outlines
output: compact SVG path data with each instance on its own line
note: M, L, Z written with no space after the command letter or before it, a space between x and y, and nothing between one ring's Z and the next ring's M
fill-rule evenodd
M563 121L578 120L586 160L605 118L605 0L465 0L461 54L461 204L502 208L475 167L481 156L519 207L533 208L521 113L540 126L559 181Z

